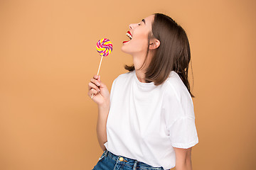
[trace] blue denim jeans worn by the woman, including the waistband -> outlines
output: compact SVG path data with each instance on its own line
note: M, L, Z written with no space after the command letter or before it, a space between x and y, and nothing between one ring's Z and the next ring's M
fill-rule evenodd
M127 157L117 156L105 150L92 170L163 170Z

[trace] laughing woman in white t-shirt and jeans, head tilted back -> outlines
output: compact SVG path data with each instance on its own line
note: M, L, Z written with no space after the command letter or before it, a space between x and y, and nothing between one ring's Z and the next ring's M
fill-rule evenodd
M94 167L192 169L198 143L188 83L190 47L181 26L161 13L129 25L122 51L133 57L111 93L94 76L88 95L98 106L97 138L104 151Z

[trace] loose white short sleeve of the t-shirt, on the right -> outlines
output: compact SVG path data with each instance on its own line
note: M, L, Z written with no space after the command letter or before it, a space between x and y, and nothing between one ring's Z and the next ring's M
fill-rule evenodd
M187 149L198 143L193 101L185 86L169 85L163 105L166 132L173 147Z

